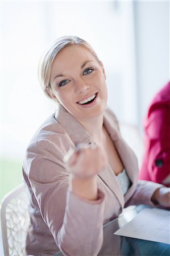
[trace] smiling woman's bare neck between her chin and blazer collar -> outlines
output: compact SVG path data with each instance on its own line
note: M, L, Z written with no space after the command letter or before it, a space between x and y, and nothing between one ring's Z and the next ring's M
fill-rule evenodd
M82 126L92 135L94 141L99 146L103 140L103 114L94 119L78 120Z

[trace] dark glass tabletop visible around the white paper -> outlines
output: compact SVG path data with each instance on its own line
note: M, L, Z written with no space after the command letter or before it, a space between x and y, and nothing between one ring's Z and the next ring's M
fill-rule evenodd
M103 226L103 245L98 256L170 256L170 245L165 243L114 235L114 232L146 207L146 205L128 207L118 218ZM55 255L63 254L60 252Z

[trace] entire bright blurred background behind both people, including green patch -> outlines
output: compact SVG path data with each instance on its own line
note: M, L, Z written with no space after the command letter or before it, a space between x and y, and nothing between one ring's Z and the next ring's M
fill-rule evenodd
M55 110L37 68L45 47L64 35L92 44L109 107L141 136L148 105L169 80L169 1L1 1L1 199L22 182L27 144Z

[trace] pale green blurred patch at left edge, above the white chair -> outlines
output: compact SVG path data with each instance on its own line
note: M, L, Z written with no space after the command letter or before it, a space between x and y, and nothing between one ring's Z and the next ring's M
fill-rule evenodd
M22 163L17 160L1 159L0 202L11 189L22 183L22 180Z

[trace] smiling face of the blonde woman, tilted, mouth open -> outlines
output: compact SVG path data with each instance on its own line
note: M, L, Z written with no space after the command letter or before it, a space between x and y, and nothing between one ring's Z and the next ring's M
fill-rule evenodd
M107 102L103 65L83 46L62 49L52 64L53 97L77 120L97 118Z

